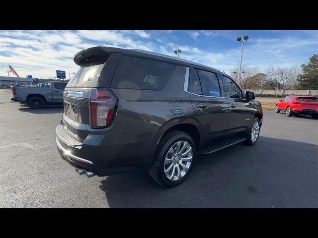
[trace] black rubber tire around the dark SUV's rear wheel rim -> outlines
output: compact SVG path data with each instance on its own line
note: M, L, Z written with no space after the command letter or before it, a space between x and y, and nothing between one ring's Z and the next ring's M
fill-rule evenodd
M166 156L168 155L169 149L178 141L186 141L189 143L189 145L192 148L192 161L186 173L180 179L172 181L172 180L169 180L164 174L164 161ZM191 169L193 167L193 162L195 161L195 153L196 153L195 143L190 135L182 131L177 131L177 130L169 131L160 140L160 143L157 147L155 158L152 162L152 166L148 170L149 175L151 176L152 179L154 179L156 182L158 182L162 186L171 187L171 186L178 185L189 176ZM171 172L171 175L172 175L172 172ZM173 173L173 178L174 178L174 173Z

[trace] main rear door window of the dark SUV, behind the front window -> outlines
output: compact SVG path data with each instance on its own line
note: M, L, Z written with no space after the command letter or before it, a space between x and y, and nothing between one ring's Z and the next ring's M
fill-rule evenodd
M221 97L219 82L215 73L198 69L202 87L202 94L205 96Z

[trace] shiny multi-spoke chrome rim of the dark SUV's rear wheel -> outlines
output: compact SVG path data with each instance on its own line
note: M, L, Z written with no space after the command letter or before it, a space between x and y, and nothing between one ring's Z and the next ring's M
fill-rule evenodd
M177 181L189 171L192 163L192 147L189 142L180 140L168 150L163 164L163 172L167 179Z

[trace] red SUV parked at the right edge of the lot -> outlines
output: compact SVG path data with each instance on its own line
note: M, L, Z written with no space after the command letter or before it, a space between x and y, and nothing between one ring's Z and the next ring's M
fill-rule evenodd
M313 119L318 116L318 98L313 96L289 95L276 103L275 112L285 111L287 117L293 115L311 115Z

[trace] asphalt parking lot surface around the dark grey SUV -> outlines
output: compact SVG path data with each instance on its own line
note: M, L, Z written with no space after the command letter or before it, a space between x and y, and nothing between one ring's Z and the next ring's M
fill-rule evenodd
M146 172L79 176L56 149L63 107L33 110L0 89L0 207L303 208L318 207L318 120L264 111L255 146L197 157L179 186Z

